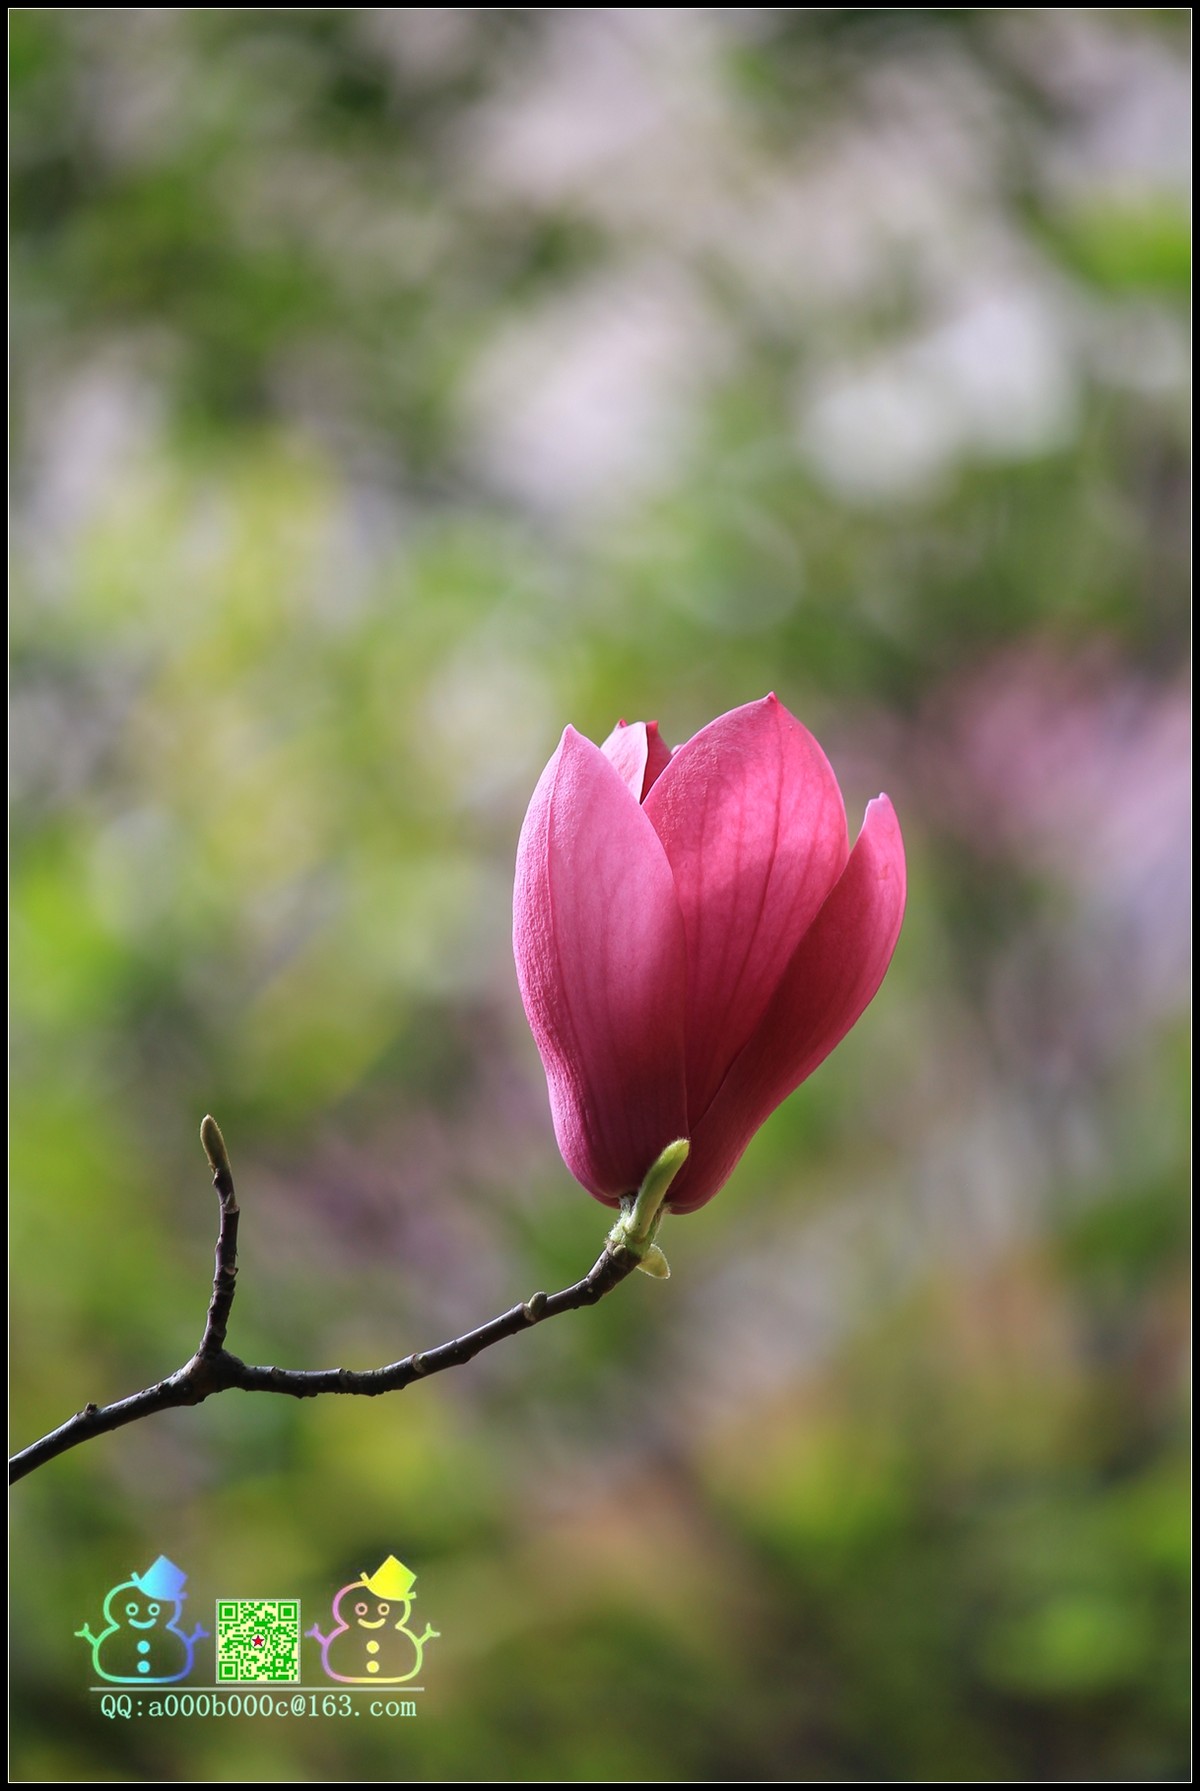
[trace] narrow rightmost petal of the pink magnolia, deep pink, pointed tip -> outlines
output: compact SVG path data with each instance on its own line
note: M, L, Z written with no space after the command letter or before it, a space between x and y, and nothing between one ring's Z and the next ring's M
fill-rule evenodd
M904 842L885 795L867 806L858 844L795 951L761 1026L691 1130L672 1213L693 1213L733 1173L763 1121L811 1076L870 1003L904 919Z

